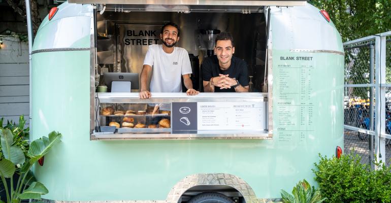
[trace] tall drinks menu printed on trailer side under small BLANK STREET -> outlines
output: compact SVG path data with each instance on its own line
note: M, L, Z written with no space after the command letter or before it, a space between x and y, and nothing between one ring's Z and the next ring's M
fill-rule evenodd
M274 129L278 141L306 142L314 132L315 57L296 53L275 58Z

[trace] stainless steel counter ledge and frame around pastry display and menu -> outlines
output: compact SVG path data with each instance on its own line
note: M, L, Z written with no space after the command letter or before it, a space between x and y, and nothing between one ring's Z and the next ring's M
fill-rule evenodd
M267 93L200 93L187 96L186 93L152 93L149 99L140 99L138 93L95 93L95 104L146 104L173 102L211 102L211 103L257 103L266 109L261 116L268 126ZM95 105L96 106L96 105ZM98 112L95 109L95 112ZM96 118L95 112L91 119ZM96 122L95 122L96 125ZM161 128L160 128L161 129ZM95 132L91 130L90 140L192 140L192 139L271 139L267 129L238 130L190 130L173 132L171 128L117 128L116 133Z

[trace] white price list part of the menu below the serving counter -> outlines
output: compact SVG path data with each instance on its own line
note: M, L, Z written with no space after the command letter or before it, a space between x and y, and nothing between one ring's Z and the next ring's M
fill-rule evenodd
M198 130L264 130L266 103L199 102Z

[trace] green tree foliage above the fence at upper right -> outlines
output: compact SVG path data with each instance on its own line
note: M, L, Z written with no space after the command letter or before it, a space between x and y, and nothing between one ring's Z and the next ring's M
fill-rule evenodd
M343 42L391 30L389 0L312 0L310 4L329 13Z

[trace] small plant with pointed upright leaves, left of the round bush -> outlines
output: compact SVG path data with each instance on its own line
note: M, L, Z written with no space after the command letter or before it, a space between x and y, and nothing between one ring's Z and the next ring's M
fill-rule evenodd
M319 190L315 189L303 179L292 190L292 194L287 193L285 190L281 190L281 197L283 203L321 203L326 198L322 198Z

